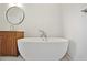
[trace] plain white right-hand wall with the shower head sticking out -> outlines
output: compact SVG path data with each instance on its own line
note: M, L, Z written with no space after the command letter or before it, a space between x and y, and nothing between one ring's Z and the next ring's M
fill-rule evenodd
M87 59L87 4L63 4L64 35L70 40L68 53L73 59Z

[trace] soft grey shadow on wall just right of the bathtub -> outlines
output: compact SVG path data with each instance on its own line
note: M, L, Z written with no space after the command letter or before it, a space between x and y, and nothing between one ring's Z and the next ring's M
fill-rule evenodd
M68 45L68 55L70 59L74 59L74 57L76 56L76 43L72 40L69 40L69 45Z

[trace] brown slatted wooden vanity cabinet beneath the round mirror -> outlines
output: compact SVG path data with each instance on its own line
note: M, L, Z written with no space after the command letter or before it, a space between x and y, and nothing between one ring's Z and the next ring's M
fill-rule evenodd
M18 39L22 37L23 31L0 31L0 56L18 56Z

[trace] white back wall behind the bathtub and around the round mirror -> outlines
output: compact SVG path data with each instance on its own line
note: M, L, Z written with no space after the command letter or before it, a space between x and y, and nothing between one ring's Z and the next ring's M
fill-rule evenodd
M10 30L6 20L9 4L0 4L0 30ZM63 36L62 14L59 4L23 4L25 19L17 30L24 30L25 36L40 36L39 30L44 30L48 36Z

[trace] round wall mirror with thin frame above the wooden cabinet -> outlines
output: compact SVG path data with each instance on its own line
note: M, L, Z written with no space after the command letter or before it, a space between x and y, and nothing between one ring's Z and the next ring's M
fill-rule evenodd
M11 7L6 12L6 18L9 23L18 25L24 20L24 11L19 7Z

